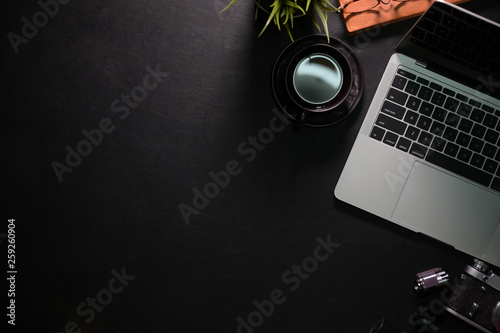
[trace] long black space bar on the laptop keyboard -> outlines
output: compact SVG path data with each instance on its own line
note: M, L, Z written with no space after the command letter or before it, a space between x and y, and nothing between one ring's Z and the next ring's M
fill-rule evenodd
M482 170L436 151L429 152L425 160L484 186L488 186L493 179L493 176Z

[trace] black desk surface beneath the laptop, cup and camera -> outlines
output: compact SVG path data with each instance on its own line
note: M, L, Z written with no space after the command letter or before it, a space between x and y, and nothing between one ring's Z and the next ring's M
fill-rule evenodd
M364 95L345 121L296 130L270 90L287 34L257 38L253 2L220 14L225 4L3 10L1 267L12 275L15 219L17 274L15 296L2 285L2 324L11 299L16 332L354 333L382 317L414 332L419 305L442 312L439 295L413 292L415 274L455 276L472 258L333 196L415 19L348 37L331 15L330 33L363 63ZM500 21L496 0L463 6ZM293 32L317 33L307 18ZM270 136L271 122L284 129ZM448 317L442 331L473 332Z

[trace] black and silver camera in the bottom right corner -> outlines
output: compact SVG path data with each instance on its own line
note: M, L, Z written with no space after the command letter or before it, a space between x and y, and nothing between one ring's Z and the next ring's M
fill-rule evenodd
M496 330L493 325L498 324L499 301L500 277L484 262L474 259L453 286L445 310L483 332L493 333Z

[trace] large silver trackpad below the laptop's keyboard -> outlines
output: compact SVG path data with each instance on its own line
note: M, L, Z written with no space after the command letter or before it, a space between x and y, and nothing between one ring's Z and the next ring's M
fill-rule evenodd
M500 221L499 196L415 162L393 219L479 257Z

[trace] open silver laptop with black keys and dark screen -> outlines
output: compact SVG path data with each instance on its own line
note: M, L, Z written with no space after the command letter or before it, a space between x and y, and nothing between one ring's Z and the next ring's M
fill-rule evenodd
M500 266L500 24L434 1L396 47L335 196Z

